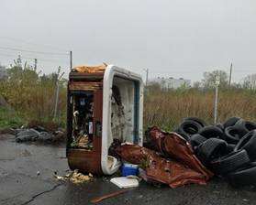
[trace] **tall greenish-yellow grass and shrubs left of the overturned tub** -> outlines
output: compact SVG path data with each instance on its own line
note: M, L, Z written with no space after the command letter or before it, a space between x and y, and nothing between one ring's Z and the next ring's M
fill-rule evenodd
M9 78L0 81L0 94L6 101L17 113L22 113L24 121L52 121L58 73L39 76L36 70L21 67L13 67L8 71ZM65 118L66 87L61 81L56 121L64 125Z

